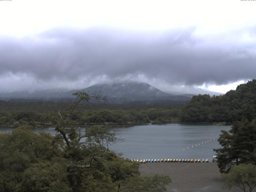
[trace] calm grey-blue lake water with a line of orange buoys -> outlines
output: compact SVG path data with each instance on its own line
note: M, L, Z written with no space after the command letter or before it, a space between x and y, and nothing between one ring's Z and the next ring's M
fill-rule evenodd
M140 125L128 128L115 128L117 137L123 141L112 144L110 148L123 153L125 158L193 158L212 160L213 148L219 148L220 130L230 130L231 126L165 124ZM1 128L0 133L12 129ZM54 128L34 129L35 133L55 134ZM193 147L192 147L193 146Z

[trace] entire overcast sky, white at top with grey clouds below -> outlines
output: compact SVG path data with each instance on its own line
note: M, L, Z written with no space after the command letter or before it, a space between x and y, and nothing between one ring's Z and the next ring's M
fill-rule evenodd
M256 77L256 1L0 1L0 92L142 81L225 93Z

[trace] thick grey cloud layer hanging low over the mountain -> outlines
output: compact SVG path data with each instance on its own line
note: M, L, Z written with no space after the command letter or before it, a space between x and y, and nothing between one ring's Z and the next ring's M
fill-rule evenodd
M0 66L0 92L113 80L163 88L221 85L256 77L256 32L252 27L197 36L193 27L161 33L62 28L20 39L0 36Z

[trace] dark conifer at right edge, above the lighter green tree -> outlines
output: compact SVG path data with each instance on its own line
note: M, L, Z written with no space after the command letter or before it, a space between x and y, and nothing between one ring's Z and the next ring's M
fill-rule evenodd
M229 132L221 132L218 141L222 148L214 149L220 172L240 163L256 164L256 119L235 122Z

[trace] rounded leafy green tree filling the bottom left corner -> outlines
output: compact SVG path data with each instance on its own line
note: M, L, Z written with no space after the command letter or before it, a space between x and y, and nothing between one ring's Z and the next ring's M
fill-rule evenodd
M62 143L47 133L34 134L28 126L0 134L0 192L41 192L68 184Z

